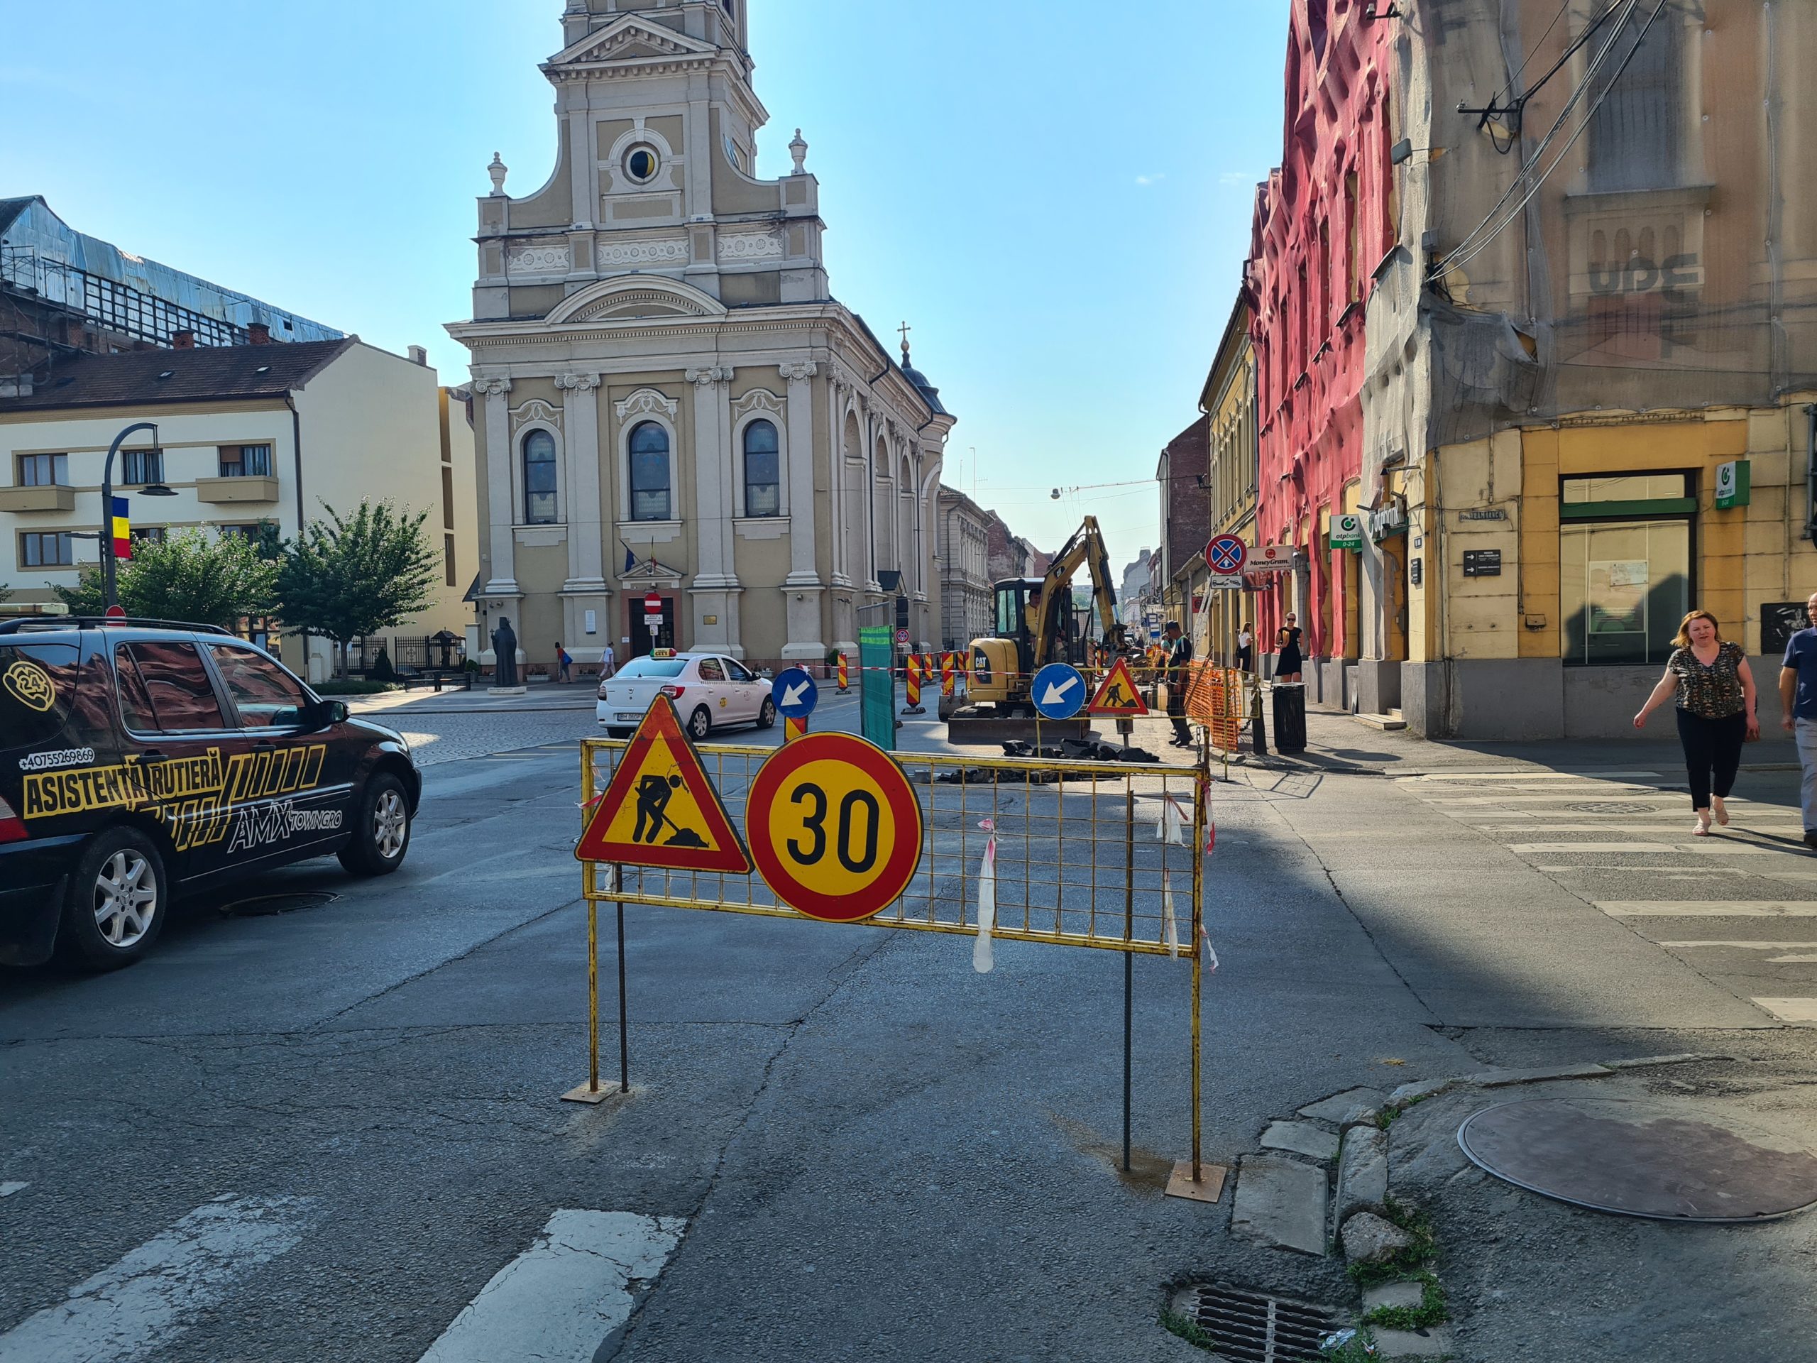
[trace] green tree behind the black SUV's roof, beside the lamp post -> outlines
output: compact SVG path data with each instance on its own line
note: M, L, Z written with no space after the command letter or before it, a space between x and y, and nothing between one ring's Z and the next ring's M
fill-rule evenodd
M276 582L278 565L262 560L249 540L191 529L136 542L114 587L129 616L234 629L243 616L273 609ZM98 563L85 563L74 587L51 591L76 614L105 609Z

